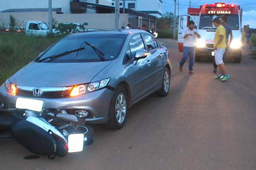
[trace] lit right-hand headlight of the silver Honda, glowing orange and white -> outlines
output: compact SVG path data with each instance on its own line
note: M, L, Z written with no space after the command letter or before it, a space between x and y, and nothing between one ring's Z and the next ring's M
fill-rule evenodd
M105 88L108 85L109 80L110 78L88 84L74 85L71 90L70 97L79 96L81 94Z

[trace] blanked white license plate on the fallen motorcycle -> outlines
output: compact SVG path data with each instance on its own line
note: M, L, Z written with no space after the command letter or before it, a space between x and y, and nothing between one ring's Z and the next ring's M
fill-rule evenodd
M84 134L70 134L67 139L68 153L81 152L84 149Z

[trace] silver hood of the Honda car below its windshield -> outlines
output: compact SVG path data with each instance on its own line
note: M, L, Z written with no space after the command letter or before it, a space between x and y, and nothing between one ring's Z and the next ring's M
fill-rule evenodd
M9 78L15 85L66 87L90 82L111 61L79 63L31 62Z

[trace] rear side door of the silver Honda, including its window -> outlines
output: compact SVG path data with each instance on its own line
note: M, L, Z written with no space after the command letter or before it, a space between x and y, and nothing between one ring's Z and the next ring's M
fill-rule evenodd
M157 41L150 34L142 34L146 48L148 50L147 65L148 65L148 81L150 84L150 91L155 90L161 85L163 78L164 54L160 51Z

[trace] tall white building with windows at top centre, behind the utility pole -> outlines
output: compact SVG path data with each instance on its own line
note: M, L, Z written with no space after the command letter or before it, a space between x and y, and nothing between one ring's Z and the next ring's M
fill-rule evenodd
M123 4L125 4L125 8L162 17L162 0L120 0L119 3L120 8L123 8ZM115 0L112 0L111 5L115 6Z

